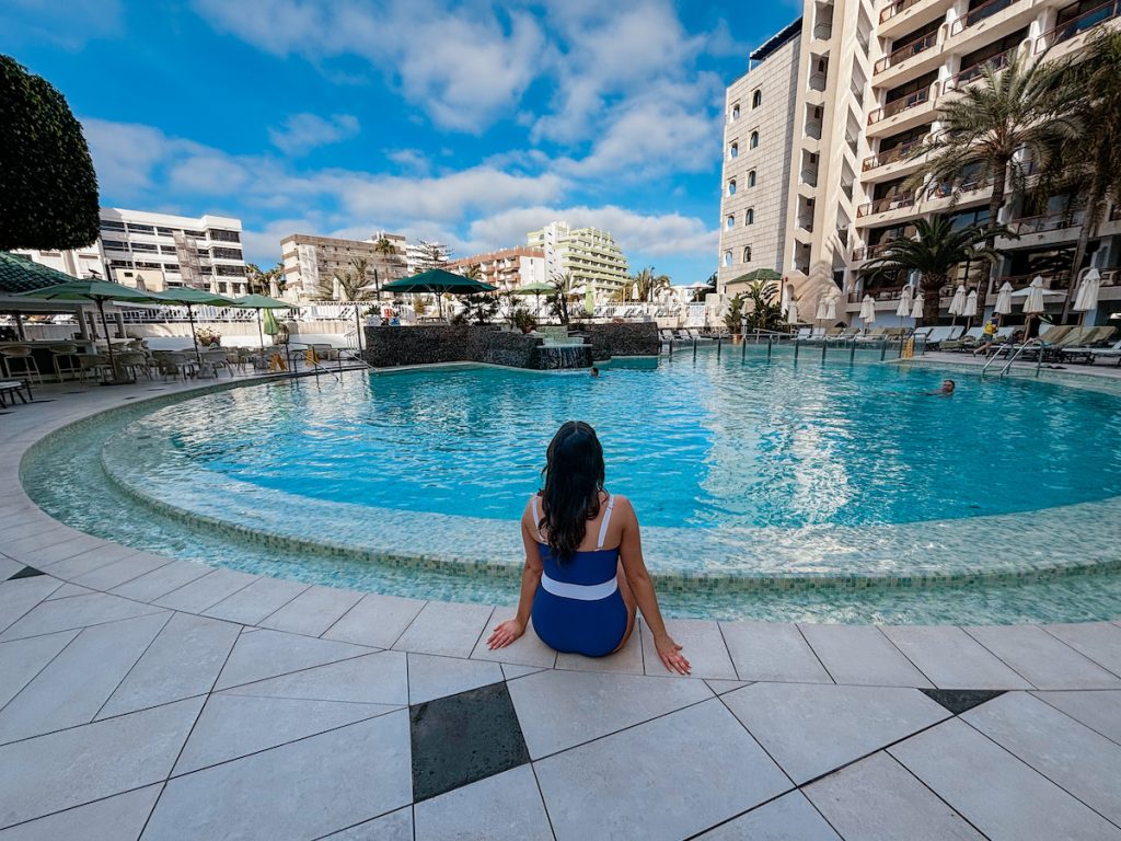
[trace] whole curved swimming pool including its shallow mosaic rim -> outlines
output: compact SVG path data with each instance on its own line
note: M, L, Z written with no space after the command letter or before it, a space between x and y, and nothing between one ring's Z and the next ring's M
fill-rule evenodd
M669 612L1017 621L1121 612L1121 397L711 351L586 373L456 367L220 390L49 442L25 481L106 537L253 572L510 601L512 521L568 418L603 441ZM62 449L61 442L54 450ZM85 459L86 466L81 468ZM100 477L83 512L75 482ZM143 512L143 523L137 512ZM96 520L96 521L95 521ZM112 532L113 534L108 534ZM423 573L417 570L421 569ZM470 572L470 574L463 574ZM484 574L480 574L484 573Z

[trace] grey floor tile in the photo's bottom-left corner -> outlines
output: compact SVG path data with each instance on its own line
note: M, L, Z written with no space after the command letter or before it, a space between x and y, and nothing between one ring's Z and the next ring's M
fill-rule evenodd
M163 785L126 792L0 831L0 841L129 841L140 837Z

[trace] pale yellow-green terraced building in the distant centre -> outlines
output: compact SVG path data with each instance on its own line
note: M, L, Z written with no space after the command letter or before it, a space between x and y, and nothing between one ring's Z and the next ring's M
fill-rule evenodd
M546 280L572 275L574 286L592 286L597 295L621 289L629 277L627 257L608 231L553 222L527 234L527 244L545 255Z

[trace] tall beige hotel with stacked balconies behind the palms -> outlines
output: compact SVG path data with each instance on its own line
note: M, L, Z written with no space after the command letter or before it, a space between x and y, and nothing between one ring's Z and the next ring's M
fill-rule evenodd
M806 0L797 46L763 45L752 54L747 75L729 87L720 281L767 266L782 272L802 301L803 314L812 312L821 295L837 290L846 295L850 315L865 294L877 297L884 314L893 311L905 279L873 279L861 272L886 242L909 234L916 219L937 213L951 213L960 224L988 220L991 183L970 184L966 178L955 195L938 185L914 193L902 188L923 166L921 158L908 154L941 130L939 104L974 83L985 65L1007 64L1016 50L1029 61L1069 55L1097 26L1115 26L1119 13L1118 3L1095 0ZM797 72L787 72L786 61L796 62ZM732 158L729 145L751 130L744 119L751 122L756 90L762 92L765 105L769 96L793 102L793 124L785 136L778 135L781 120L775 123L775 141L785 145L785 154L765 159L763 126L759 147L744 157L741 140ZM750 153L758 153L754 159ZM739 225L750 198L741 194L740 181L752 166L757 190L772 178L781 182L788 173L781 259L775 266L767 246L759 250L753 240L748 242ZM733 178L736 190L729 195ZM1006 209L999 221L1021 238L997 243L1009 250L999 268L1002 279L1019 287L1043 274L1051 285L1067 283L1063 258L1073 253L1081 221L1063 204L1056 200L1053 212L1043 216L1016 203ZM734 214L735 223L726 228L728 216ZM1091 244L1092 265L1104 270L1106 284L1115 274L1112 267L1121 262L1118 215L1114 209ZM758 225L758 212L754 219ZM749 244L752 260L744 262ZM732 265L725 267L729 252ZM735 292L734 284L730 292ZM986 292L993 290L981 289L982 295ZM1121 288L1106 286L1102 292L1106 301L1114 295L1121 298ZM994 303L994 294L986 303Z

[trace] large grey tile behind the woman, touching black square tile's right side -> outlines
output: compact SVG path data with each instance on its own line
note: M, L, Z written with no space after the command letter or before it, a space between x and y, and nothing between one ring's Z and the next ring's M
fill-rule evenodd
M599 672L538 672L508 687L534 759L713 696L703 681Z

